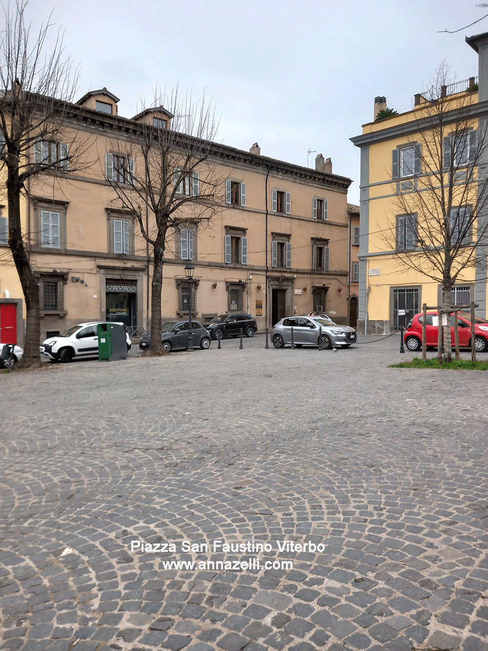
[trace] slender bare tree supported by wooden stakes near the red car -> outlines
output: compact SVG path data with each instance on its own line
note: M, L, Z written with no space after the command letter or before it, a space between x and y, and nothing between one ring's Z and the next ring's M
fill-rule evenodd
M418 98L410 146L393 153L398 197L383 240L399 268L442 286L441 314L448 315L452 287L466 280L465 271L478 268L486 276L488 133L486 118L474 110L476 87L448 85L444 64L436 72L432 89ZM449 326L443 335L450 360Z

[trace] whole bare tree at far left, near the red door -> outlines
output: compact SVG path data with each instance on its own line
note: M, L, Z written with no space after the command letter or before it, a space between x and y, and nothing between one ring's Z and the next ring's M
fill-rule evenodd
M27 2L4 9L0 45L1 189L8 204L8 245L25 298L27 312L22 365L40 364L39 288L21 223L21 195L28 178L49 171L62 173L76 165L77 150L65 135L77 74L64 58L62 35L51 38L51 16L31 33L25 20ZM36 144L37 143L37 144ZM62 145L62 146L61 146ZM34 150L36 153L34 154ZM5 174L5 169L7 173Z

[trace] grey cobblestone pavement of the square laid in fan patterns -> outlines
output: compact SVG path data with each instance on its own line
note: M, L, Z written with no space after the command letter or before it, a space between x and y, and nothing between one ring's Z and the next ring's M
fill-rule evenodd
M488 650L485 376L368 339L1 374L0 648Z

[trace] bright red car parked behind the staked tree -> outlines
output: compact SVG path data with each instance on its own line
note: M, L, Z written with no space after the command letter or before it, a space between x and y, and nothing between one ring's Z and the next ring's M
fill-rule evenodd
M422 349L422 313L415 314L411 320L403 340L408 350L416 351ZM450 314L451 321L451 342L454 347L454 314ZM437 323L439 317L437 312L427 312L426 316L426 346L437 348L437 337L439 329ZM457 326L459 332L459 347L470 348L471 346L471 315L465 312L457 312ZM483 353L488 350L488 320L474 317L474 346L476 352Z

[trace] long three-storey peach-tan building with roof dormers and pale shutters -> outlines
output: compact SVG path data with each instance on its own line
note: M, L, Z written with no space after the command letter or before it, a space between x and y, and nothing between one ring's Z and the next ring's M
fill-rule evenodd
M82 143L77 171L60 163L56 174L32 178L23 201L25 242L40 288L41 339L83 321L122 321L133 337L150 324L150 247L111 181L121 180L115 178L121 173L117 141L137 141L142 122L170 128L172 115L151 109L128 119L118 115L117 103L107 89L88 92L70 105L66 142L36 143L31 152L33 160L62 160ZM203 324L216 314L244 311L264 330L282 316L310 310L346 324L351 180L332 174L321 154L309 169L262 156L257 143L249 152L215 143L211 156L222 178L221 207L207 225L190 221L187 229L168 232L163 319L188 314L184 268L191 262L192 312ZM128 167L140 164L136 158ZM198 193L198 174L188 191ZM0 210L0 338L21 344L25 307L7 246L5 199ZM145 219L151 227L152 215Z

